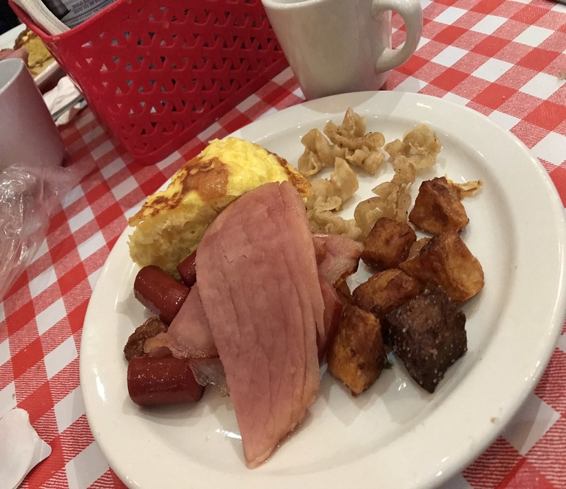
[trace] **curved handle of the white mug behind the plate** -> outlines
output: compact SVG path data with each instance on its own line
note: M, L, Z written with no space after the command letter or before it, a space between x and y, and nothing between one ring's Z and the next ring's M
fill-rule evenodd
M423 10L420 0L373 0L371 15L377 19L387 10L397 12L403 18L407 28L407 39L403 48L385 48L375 62L375 72L392 70L407 61L417 50L423 30Z

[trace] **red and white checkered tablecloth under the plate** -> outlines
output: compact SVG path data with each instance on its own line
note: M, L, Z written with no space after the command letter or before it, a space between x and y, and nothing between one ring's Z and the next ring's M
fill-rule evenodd
M541 160L566 205L566 6L549 0L421 0L423 38L386 90L472 107ZM402 42L394 17L394 45ZM52 447L24 488L121 488L85 417L78 351L92 288L127 216L211 138L300 103L288 68L162 162L141 166L90 110L61 130L89 167L52 218L34 261L0 303L0 417L19 406ZM446 485L566 488L566 329L534 393L499 438Z

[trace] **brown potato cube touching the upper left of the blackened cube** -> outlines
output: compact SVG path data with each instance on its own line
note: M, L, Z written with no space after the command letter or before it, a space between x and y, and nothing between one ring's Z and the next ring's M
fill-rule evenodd
M399 269L389 269L376 273L358 285L352 293L352 298L358 307L373 313L381 320L420 291L417 280Z

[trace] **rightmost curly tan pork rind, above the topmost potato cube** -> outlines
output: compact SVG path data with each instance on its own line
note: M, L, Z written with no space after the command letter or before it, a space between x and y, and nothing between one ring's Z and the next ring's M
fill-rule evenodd
M403 141L396 139L387 143L384 149L393 160L398 156L406 156L419 170L432 167L436 163L441 147L434 131L426 124L419 124L403 136Z

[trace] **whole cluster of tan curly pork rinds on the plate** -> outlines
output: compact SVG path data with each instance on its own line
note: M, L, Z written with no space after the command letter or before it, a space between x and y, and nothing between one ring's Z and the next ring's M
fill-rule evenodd
M357 166L375 174L385 158L380 150L385 143L384 136L379 132L366 133L366 118L351 109L346 112L342 125L329 121L324 134L330 141L318 129L311 129L301 140L304 153L298 167L304 176L317 174L323 167L335 168L330 180L313 183L306 209L311 229L364 240L379 218L406 222L411 204L410 186L418 171L434 165L441 149L434 131L427 125L417 125L403 136L403 141L397 139L385 145L395 175L390 182L372 189L375 197L358 203L353 219L335 214L359 187L355 172L349 167Z

